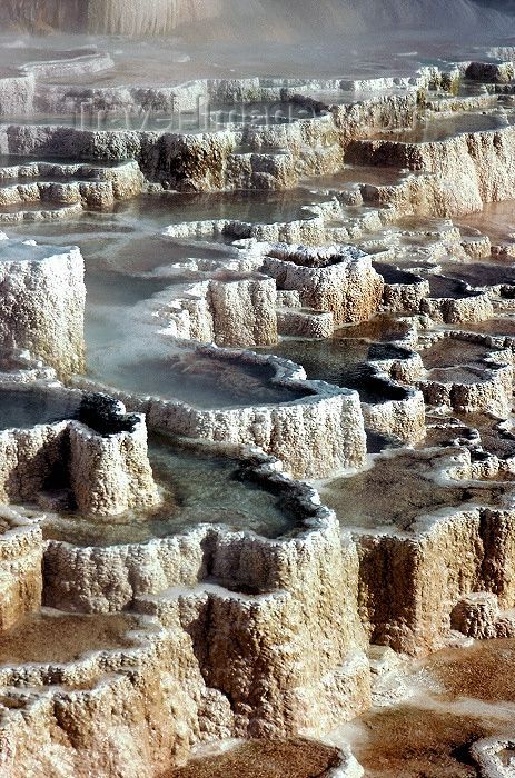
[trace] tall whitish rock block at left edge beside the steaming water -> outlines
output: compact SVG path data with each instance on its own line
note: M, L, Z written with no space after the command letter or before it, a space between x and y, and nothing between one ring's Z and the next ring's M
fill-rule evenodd
M85 367L83 259L78 248L0 241L0 339L62 377Z

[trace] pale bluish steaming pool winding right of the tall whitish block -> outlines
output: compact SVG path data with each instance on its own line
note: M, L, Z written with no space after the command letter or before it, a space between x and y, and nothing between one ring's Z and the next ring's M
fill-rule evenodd
M248 196L247 212L263 217L271 209L274 216L284 197ZM68 241L81 247L87 266L86 343L91 378L130 392L178 399L205 409L290 402L301 397L274 385L271 369L194 357L186 348L178 349L155 335L155 296L166 302L172 297L171 286L177 292L186 280L181 275L167 273L167 261L216 259L224 253L230 257L231 252L230 248L220 255L219 250L180 246L157 233L174 219L218 218L229 212L238 212L234 196L199 198L195 205L192 198L171 196L141 198L136 205L120 207L116 217L87 216L77 222L76 232L68 223L34 225L31 236L36 239L59 245L66 235ZM152 275L156 266L159 272ZM191 280L195 278L192 275Z

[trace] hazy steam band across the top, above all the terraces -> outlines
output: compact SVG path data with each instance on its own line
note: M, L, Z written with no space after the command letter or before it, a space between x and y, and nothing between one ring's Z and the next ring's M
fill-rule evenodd
M216 76L413 74L420 62L438 62L450 52L456 60L474 59L475 46L515 37L511 6L512 0L0 0L0 69L12 70L26 56L46 59L95 46L116 62L112 86Z

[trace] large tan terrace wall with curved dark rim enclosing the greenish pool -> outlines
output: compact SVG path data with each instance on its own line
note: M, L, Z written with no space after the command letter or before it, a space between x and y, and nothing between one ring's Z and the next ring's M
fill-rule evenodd
M158 618L179 639L167 671L190 668L185 691L194 700L204 694L194 667L209 687L205 737L219 736L220 727L232 737L319 736L369 699L356 549L311 487L249 453L246 477L280 496L296 517L289 535L267 539L202 525L139 545L48 541L44 601L103 614L131 608ZM328 562L323 568L320 555ZM307 654L305 641L319 638L316 655ZM182 714L175 720L185 724Z

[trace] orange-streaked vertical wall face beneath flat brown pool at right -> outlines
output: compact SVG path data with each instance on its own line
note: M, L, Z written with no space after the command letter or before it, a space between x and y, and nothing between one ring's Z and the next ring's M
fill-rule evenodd
M471 510L420 538L359 538L360 606L372 642L415 655L443 646L455 602L481 587L479 527L479 511Z

